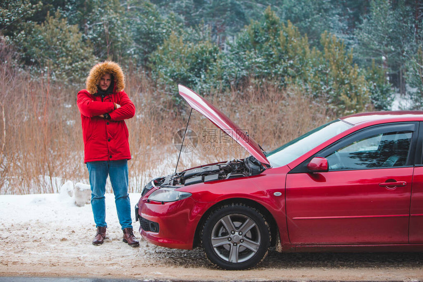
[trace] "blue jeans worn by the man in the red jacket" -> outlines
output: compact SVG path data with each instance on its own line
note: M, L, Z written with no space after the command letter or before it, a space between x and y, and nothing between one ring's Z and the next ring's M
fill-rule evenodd
M106 223L106 192L107 176L110 176L115 193L116 210L121 228L132 228L131 203L128 194L128 161L104 160L87 162L90 173L91 208L96 227L107 227Z

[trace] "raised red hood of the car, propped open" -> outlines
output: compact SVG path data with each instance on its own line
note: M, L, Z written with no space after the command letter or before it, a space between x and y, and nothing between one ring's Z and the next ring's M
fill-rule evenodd
M238 125L231 121L225 114L216 109L209 101L201 97L191 89L178 85L179 94L194 109L208 118L214 125L223 132L231 136L248 153L263 164L270 166L269 160L263 154L260 146L251 138L247 132L243 131Z

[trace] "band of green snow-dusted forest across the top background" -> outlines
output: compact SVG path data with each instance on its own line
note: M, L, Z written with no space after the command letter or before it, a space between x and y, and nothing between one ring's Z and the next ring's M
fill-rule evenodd
M272 81L347 114L390 108L387 73L401 90L406 78L421 107L418 2L0 0L0 32L26 65L57 79L83 79L94 61L110 59L147 70L173 93L177 83L202 92Z

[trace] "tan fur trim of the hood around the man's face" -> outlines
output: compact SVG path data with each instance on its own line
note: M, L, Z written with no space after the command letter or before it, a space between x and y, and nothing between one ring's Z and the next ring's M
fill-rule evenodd
M97 85L105 73L110 73L114 77L115 89L113 92L116 93L123 91L125 88L125 76L121 66L118 63L112 61L105 61L103 63L97 63L90 70L90 74L88 75L85 82L87 90L90 92L90 94L97 93Z

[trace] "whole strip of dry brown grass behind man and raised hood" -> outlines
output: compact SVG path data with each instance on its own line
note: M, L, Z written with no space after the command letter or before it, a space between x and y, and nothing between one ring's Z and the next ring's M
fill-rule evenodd
M30 78L6 60L0 62L0 150L4 144L0 194L58 192L68 180L89 183L76 106L78 91L44 74ZM185 127L189 107L175 110L172 98L155 89L143 72L130 71L126 92L136 107L136 116L127 121L132 153L130 191L139 192L151 178L175 170L179 152L172 140ZM294 88L281 91L271 83L260 88L248 84L227 93L216 90L206 98L265 150L332 119L324 105ZM198 145L181 154L178 171L248 156L196 111L189 127L197 133Z

